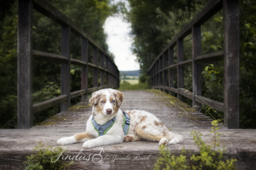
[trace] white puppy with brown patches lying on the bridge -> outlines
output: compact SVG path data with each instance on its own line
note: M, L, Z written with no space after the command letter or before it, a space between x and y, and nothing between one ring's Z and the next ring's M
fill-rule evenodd
M172 133L148 111L121 111L124 94L107 88L94 92L89 99L92 115L86 123L86 132L57 140L58 144L84 142L82 147L134 142L157 141L159 145L177 144L181 135Z

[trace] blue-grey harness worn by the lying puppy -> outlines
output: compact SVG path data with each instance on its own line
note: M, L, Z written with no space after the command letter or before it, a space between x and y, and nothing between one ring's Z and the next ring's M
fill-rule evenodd
M125 113L125 111L123 111L123 114L124 114L123 131L124 131L124 133L126 135L128 133L129 127L130 127L130 117L128 116L127 113ZM99 133L99 136L102 136L102 135L106 134L108 132L108 130L110 129L110 127L113 126L114 122L115 122L115 117L113 117L113 119L109 120L105 124L99 125L99 124L96 123L95 119L92 116L93 127Z

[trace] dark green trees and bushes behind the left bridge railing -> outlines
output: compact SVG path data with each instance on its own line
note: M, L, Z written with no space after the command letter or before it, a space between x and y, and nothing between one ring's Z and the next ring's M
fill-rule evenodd
M0 127L17 127L17 6L18 1L9 1L1 13L0 20ZM103 25L109 15L122 10L122 4L111 7L108 0L49 0L63 14L86 32L105 51L107 35ZM117 9L119 8L119 9ZM50 19L52 20L50 20ZM61 54L61 26L55 23L55 16L46 17L33 10L32 44L33 49ZM71 34L71 57L80 58L81 38ZM89 48L89 60L92 50ZM33 59L32 87L33 101L41 102L60 94L61 65ZM71 65L71 91L79 90L80 67ZM91 72L89 77L91 78ZM88 81L89 88L92 81ZM74 103L72 103L74 104ZM42 122L48 116L55 115L59 109L38 112L34 122Z

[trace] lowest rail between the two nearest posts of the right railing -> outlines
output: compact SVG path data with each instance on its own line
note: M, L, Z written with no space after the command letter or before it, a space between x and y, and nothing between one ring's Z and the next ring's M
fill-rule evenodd
M195 96L195 100L199 103L201 103L202 105L207 105L209 107L212 107L213 109L217 110L217 111L222 111L224 112L224 103L218 102L218 101L214 101L212 99L208 99L202 96Z

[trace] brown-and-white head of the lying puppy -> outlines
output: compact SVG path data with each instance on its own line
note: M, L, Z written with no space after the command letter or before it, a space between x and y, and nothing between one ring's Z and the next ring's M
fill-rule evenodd
M112 116L119 111L124 99L124 94L111 88L102 89L92 94L89 99L93 114Z

